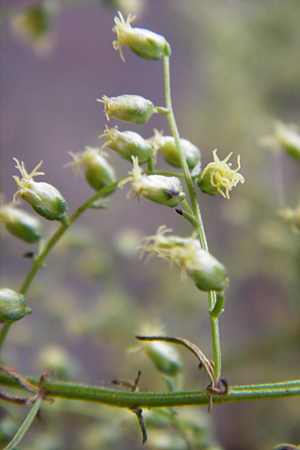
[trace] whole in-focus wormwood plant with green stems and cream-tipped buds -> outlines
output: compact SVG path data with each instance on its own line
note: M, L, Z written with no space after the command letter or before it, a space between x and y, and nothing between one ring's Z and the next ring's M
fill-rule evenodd
M40 172L42 162L28 172L24 161L14 158L18 175L13 175L17 191L10 204L2 204L0 218L7 230L14 236L28 243L42 242L41 221L38 216L50 221L57 221L59 227L50 239L41 243L39 253L33 256L32 267L26 275L18 292L9 287L0 289L0 322L3 324L0 334L0 347L14 322L31 313L27 306L29 288L35 276L53 247L69 230L76 220L88 209L105 206L107 197L117 189L130 186L127 197L146 199L158 204L158 208L168 206L187 220L187 235L178 236L172 229L161 224L156 233L141 242L141 257L146 261L157 257L168 262L171 267L180 269L180 278L184 282L190 278L195 289L207 292L208 320L211 325L213 355L205 355L195 343L184 336L169 336L160 332L145 332L136 336L143 345L147 355L152 359L156 369L167 381L168 390L164 393L139 392L138 373L134 382L114 380L116 388L86 386L81 384L53 381L43 374L40 380L21 376L17 370L1 366L1 384L10 388L29 392L24 396L0 392L4 401L16 404L30 404L31 409L5 449L13 449L21 441L37 415L43 401L52 402L56 398L96 402L123 408L133 413L141 428L142 442L147 440L144 409L160 411L185 436L186 448L202 448L196 437L187 437L186 428L174 408L179 406L206 405L208 412L214 404L256 399L296 396L300 394L300 381L270 383L262 385L232 386L230 380L222 374L221 343L219 335L219 318L224 311L225 292L229 283L228 274L222 262L209 252L206 234L202 222L200 205L196 192L214 196L221 194L224 201L230 199L231 190L244 183L239 172L240 156L237 156L236 168L229 162L232 153L224 160L213 151L213 160L206 167L201 167L200 150L190 141L181 139L172 108L170 91L170 57L171 47L167 40L147 29L131 26L134 16L125 20L121 13L115 18L113 31L117 39L113 47L119 51L125 61L123 46L129 47L138 56L161 60L164 66L165 105L155 106L150 100L138 95L124 94L118 97L103 95L99 100L104 105L104 112L110 118L126 123L144 124L151 120L153 114L160 114L169 124L170 135L154 131L153 137L143 138L140 134L118 127L108 126L100 136L104 140L100 148L86 147L82 153L71 154L72 161L67 165L74 171L81 171L83 166L87 182L96 191L70 216L67 215L67 202L61 193L47 182L35 181L43 176ZM132 164L131 170L120 179L116 179L114 168L108 163L103 148L115 151L121 158ZM157 153L161 152L170 166L170 171L156 168ZM141 166L144 165L144 168ZM200 197L201 198L201 197ZM18 202L24 200L37 215L23 211ZM173 211L172 211L173 213ZM295 223L293 222L295 225ZM296 224L297 225L297 224ZM174 234L173 234L174 233ZM27 295L29 294L29 295ZM208 385L204 390L182 391L176 377L182 370L174 347L183 346L197 358L199 368L205 371ZM120 390L120 386L125 390ZM179 388L178 388L179 386ZM170 447L171 448L171 447ZM173 448L173 447L172 447ZM281 447L284 448L284 447Z

